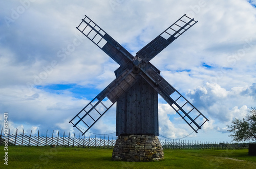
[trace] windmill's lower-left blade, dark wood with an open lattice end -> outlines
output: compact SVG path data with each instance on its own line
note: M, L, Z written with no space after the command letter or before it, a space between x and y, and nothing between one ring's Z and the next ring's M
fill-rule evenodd
M124 70L119 77L78 112L69 123L73 124L73 127L76 127L83 134L86 133L115 104L117 99L137 81L132 71Z

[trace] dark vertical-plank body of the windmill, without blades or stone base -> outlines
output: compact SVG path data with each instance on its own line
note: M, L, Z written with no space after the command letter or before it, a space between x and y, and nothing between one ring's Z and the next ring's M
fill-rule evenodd
M117 100L116 135L158 135L158 94L148 83L137 81Z

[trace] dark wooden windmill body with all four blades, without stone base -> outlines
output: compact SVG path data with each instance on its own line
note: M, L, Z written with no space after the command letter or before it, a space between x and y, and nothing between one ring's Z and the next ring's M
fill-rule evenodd
M117 102L116 135L158 136L158 94L195 131L208 119L172 87L150 61L197 21L183 15L134 57L89 17L76 27L120 67L116 79L69 123L86 133ZM129 137L130 138L130 137ZM143 159L144 160L144 159Z

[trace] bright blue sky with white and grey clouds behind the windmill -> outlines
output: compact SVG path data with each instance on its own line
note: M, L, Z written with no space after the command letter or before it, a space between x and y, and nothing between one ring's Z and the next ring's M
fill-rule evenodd
M135 55L187 14L198 23L151 63L209 122L190 134L193 130L159 96L159 133L231 141L226 125L256 106L255 5L255 0L1 1L1 127L8 112L13 132L78 133L68 122L115 79L119 67L76 29L84 15ZM115 132L115 110L90 132Z

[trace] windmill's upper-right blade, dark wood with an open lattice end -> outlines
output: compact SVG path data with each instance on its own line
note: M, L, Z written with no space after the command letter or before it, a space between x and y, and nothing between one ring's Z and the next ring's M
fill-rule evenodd
M186 32L198 21L183 15L174 24L170 25L163 33L139 50L136 55L144 62L152 60L159 52Z

